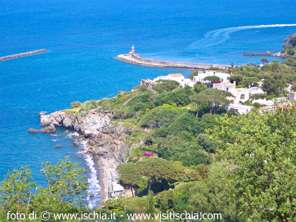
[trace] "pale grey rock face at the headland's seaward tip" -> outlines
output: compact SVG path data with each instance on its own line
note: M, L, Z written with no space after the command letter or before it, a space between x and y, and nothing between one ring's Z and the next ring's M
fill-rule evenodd
M41 125L61 126L72 129L86 138L95 137L105 126L108 126L112 113L89 112L85 116L63 111L53 112L40 117Z

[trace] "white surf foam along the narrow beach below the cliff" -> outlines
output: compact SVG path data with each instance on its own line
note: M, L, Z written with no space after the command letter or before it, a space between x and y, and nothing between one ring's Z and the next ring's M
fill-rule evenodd
M81 141L81 144L83 145L84 151L80 151L79 153L86 153L87 152L87 146L86 141ZM98 172L96 168L94 167L94 160L93 157L89 155L83 155L84 160L86 161L86 165L89 167L89 178L88 178L88 184L89 188L87 189L88 197L86 198L86 201L91 209L96 207L99 204L99 201L102 199L101 196L98 194L98 192L101 190L101 186L99 185L99 180L97 179ZM89 196L93 194L94 197L90 198Z

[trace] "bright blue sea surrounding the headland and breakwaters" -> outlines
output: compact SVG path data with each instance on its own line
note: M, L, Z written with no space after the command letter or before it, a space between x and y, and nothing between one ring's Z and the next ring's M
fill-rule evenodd
M73 147L64 129L27 133L31 127L41 128L40 111L112 97L141 79L168 73L188 77L192 72L115 59L132 45L136 53L152 59L259 64L261 57L242 54L278 52L283 39L296 32L295 0L1 0L0 5L0 57L48 50L0 62L0 180L8 170L30 165L38 185L46 185L41 162L57 163L66 155L82 162L89 179L96 180L94 172L91 175L95 165L76 157L83 144ZM62 148L54 148L56 144Z

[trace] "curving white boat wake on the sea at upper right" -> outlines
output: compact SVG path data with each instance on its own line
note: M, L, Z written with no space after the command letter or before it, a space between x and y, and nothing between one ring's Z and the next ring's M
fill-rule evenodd
M209 31L205 34L204 38L193 42L188 46L189 50L197 48L206 48L225 42L230 38L229 34L244 29L252 28L270 28L270 27L285 27L285 26L296 26L296 24L275 24L275 25L250 25L250 26L239 26L232 28L223 28L213 31Z

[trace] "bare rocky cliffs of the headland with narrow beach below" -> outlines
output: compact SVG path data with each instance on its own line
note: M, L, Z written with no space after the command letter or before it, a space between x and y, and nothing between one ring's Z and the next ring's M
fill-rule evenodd
M76 141L86 140L86 154L94 157L99 166L98 178L102 187L99 193L104 199L107 199L110 172L124 163L133 147L143 144L143 141L128 142L128 136L138 131L132 123L117 121L112 117L111 112L88 112L83 116L65 111L40 116L41 125L54 125L78 132L80 136L71 136L75 139L75 145Z

